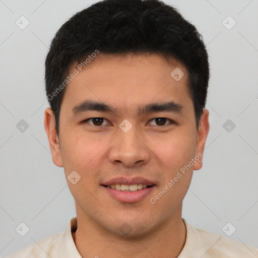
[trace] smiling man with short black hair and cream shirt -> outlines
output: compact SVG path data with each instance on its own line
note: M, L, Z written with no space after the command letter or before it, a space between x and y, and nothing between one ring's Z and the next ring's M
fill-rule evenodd
M56 33L45 130L77 217L11 257L255 257L181 218L209 132L196 28L156 0L105 0Z

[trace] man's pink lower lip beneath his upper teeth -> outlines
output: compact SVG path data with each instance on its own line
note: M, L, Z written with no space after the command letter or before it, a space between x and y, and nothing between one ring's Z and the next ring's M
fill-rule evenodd
M112 198L116 199L119 202L137 203L142 201L148 195L150 195L155 185L152 185L151 187L143 188L137 191L121 191L121 190L109 188L108 186L103 186L103 185L101 186L106 189L106 191L111 195Z

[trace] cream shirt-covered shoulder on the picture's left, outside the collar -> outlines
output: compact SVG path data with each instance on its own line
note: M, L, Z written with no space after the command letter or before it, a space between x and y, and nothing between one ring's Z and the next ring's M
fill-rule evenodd
M7 258L49 258L59 257L60 241L64 231L41 239Z

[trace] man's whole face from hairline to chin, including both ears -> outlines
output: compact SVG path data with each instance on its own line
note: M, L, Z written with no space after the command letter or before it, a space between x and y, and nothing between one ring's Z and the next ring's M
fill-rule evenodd
M99 53L66 88L59 138L46 109L53 162L64 167L78 219L137 236L181 218L209 131L208 110L197 131L186 85L184 67L158 54Z

